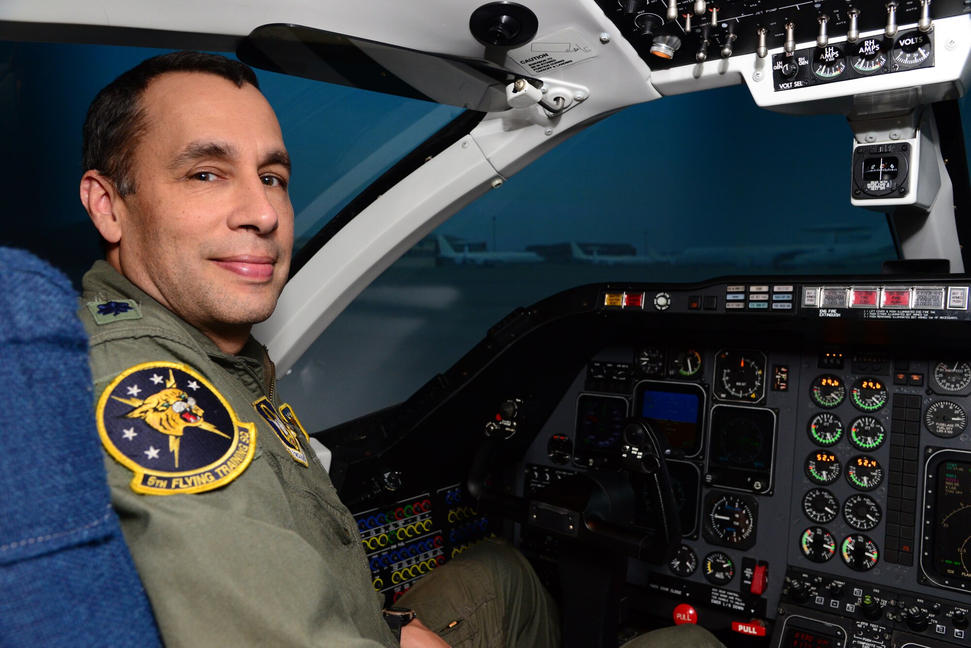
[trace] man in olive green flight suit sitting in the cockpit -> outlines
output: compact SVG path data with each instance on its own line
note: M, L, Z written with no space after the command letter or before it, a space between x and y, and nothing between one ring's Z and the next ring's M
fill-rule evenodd
M352 515L250 336L293 239L289 157L252 71L199 52L145 61L91 104L84 169L106 246L81 308L97 426L162 638L398 645ZM418 611L402 646L558 643L518 552L465 555L401 599Z

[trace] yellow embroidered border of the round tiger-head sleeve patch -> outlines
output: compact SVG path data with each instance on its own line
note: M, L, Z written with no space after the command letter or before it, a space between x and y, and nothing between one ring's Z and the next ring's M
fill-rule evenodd
M219 403L221 403L226 408L226 411L229 413L229 420L233 424L233 442L229 446L229 449L226 451L226 453L222 455L217 461L210 464L209 466L205 466L203 468L196 469L196 470L185 470L183 472L149 470L144 466L140 466L139 464L135 463L134 461L126 457L124 453L122 453L120 450L117 449L114 441L112 441L111 437L108 436L108 431L105 429L105 421L104 421L105 406L108 404L108 399L111 398L111 395L115 391L115 388L122 380L127 378L132 373L140 372L146 369L155 369L155 368L178 369L181 372L188 373L193 378L202 382L202 384L205 385L209 389L209 391L215 394L216 398L218 398L219 400ZM136 493L141 493L143 495L177 495L180 493L191 494L191 493L204 493L206 491L211 491L220 486L224 486L225 484L228 484L233 479L243 474L243 471L250 466L252 457L256 453L255 424L240 422L240 420L236 417L236 412L233 411L232 405L229 405L229 403L224 398L222 398L222 394L220 394L218 392L218 389L216 389L216 387L213 386L213 383L211 383L209 380L204 378L200 373L196 372L188 365L184 365L181 363L165 362L165 361L144 362L140 365L135 365L134 367L130 367L125 371L118 373L117 377L114 380L112 380L112 382L107 387L105 387L105 390L101 393L101 397L98 399L98 405L97 405L97 408L95 409L94 416L98 424L98 436L101 437L102 445L105 446L105 449L108 451L108 454L110 454L115 459L115 461L117 461L117 463L121 464L128 470L131 470L132 472L135 473L135 476L131 480L131 484L130 484L131 490L135 491ZM142 479L147 475L164 477L168 479L171 477L184 477L188 475L199 474L202 472L206 472L207 470L215 469L217 466L226 462L230 457L233 456L233 454L236 453L236 450L240 445L240 435L244 431L250 433L250 447L249 447L249 450L247 451L246 458L243 460L242 463L240 463L236 468L232 469L228 474L222 477L219 477L215 481L212 481L208 484L200 484L198 486L180 488L178 490L170 489L170 488L154 488L151 486L144 486L142 484Z

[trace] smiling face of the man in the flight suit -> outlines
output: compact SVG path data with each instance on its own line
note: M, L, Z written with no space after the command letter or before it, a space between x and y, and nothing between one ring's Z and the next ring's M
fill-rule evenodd
M142 98L145 137L123 199L121 272L202 331L261 322L293 246L277 117L251 85L168 73Z

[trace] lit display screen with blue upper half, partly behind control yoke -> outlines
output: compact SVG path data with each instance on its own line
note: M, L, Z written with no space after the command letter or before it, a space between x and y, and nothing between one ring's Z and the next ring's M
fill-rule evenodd
M648 419L668 447L686 457L701 449L705 392L697 385L645 380L637 386L635 411Z

